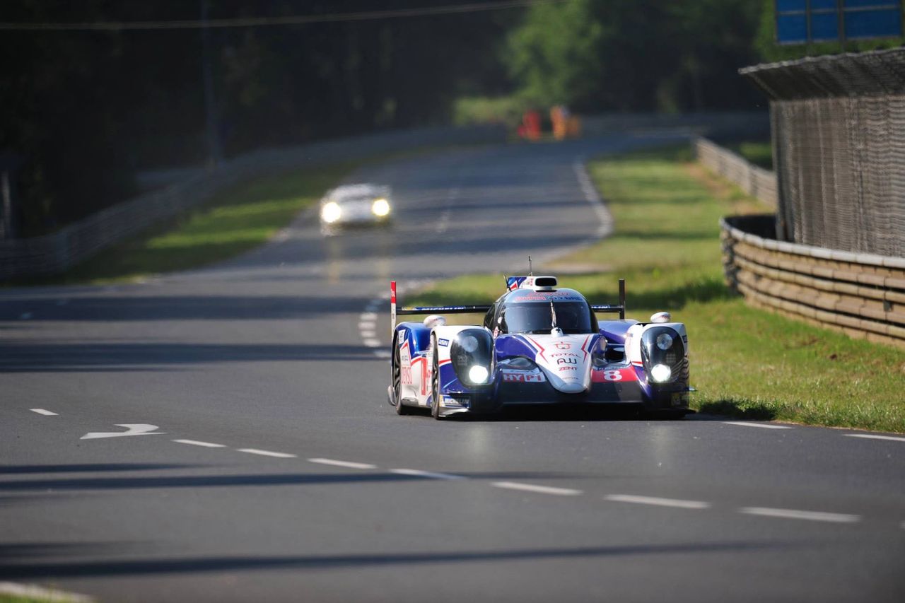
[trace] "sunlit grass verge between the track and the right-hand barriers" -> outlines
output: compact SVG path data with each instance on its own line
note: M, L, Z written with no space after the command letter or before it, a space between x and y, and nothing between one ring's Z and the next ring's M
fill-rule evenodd
M615 302L617 279L624 278L629 317L668 310L684 322L691 384L699 390L692 406L700 411L905 432L900 350L749 308L729 292L717 220L766 207L689 158L670 149L592 161L615 233L545 272L598 303ZM405 303L481 303L503 291L502 275L472 275L439 282Z

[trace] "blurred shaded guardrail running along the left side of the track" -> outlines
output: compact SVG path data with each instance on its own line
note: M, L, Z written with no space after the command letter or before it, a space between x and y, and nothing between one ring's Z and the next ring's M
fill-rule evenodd
M253 151L171 187L110 206L52 235L0 240L0 280L60 273L110 244L253 177L410 148L503 142L507 135L507 130L499 126L415 129Z

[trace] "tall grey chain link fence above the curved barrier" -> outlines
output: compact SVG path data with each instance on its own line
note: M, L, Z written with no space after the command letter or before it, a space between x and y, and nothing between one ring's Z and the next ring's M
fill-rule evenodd
M777 238L905 255L905 48L740 72L771 99Z

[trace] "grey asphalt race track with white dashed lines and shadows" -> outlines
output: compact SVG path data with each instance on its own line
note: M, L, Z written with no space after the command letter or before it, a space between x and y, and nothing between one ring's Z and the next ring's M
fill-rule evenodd
M593 239L576 161L653 141L400 159L353 178L395 188L392 229L323 240L308 212L210 269L0 291L0 581L102 601L905 600L905 438L387 405L388 281L520 273ZM83 439L128 429L146 433Z

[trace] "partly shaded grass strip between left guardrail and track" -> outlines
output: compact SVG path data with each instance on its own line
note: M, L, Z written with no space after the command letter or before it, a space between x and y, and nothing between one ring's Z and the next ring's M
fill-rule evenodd
M227 260L266 242L358 165L349 162L253 179L66 273L6 284L129 282Z

